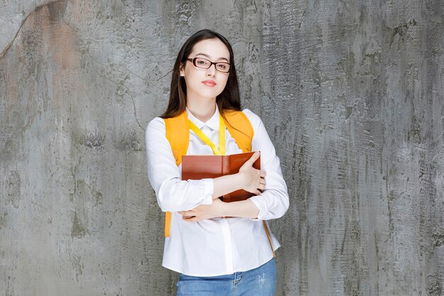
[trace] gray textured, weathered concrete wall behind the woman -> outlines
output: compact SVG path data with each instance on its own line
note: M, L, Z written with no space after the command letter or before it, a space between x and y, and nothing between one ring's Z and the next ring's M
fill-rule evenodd
M0 295L173 295L143 131L233 43L291 206L277 295L444 295L444 4L0 1Z

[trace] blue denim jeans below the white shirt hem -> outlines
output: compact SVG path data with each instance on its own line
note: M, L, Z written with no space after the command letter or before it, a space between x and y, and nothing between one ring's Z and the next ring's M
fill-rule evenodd
M213 277L180 275L177 296L273 296L276 290L274 258L258 268Z

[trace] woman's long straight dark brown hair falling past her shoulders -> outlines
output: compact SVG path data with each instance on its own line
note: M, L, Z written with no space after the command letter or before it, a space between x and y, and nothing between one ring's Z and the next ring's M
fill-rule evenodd
M231 44L228 42L228 40L226 40L225 37L223 37L223 35L205 29L194 33L194 35L188 38L188 40L179 50L179 54L177 55L176 62L174 62L174 67L172 70L170 101L168 102L167 111L160 116L162 119L175 117L185 111L185 107L187 106L187 84L185 84L184 77L180 76L180 70L182 69L184 63L187 62L187 57L189 53L192 52L196 43L201 40L214 38L221 40L228 48L228 51L230 52L231 64L225 89L223 89L221 94L216 97L216 104L222 116L224 111L240 111L239 84L238 75L236 75L234 65L233 48L231 48Z

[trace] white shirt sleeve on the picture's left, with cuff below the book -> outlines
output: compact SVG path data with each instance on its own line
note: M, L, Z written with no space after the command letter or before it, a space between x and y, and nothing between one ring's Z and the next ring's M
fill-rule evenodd
M165 121L152 119L145 131L148 178L163 212L187 211L199 204L213 202L213 179L182 180L170 142L165 136Z

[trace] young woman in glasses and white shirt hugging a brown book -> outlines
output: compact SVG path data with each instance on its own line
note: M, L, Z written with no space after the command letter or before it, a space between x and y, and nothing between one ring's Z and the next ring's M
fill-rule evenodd
M180 147L174 141L184 131L189 138L183 155L213 155L223 148L227 155L243 152L238 138L221 128L225 124L234 128L233 134L245 134L244 127L231 126L237 121L228 120L228 114L245 118L252 131L250 148L257 152L234 175L181 180ZM187 120L179 125L185 130L171 127L170 121L179 118ZM204 136L189 130L187 123ZM224 147L219 145L222 139ZM180 273L177 295L274 295L279 242L264 221L287 211L287 186L262 121L240 109L233 50L226 38L202 30L184 43L174 64L167 111L148 124L145 141L157 202L162 211L171 212L162 265ZM261 170L256 170L252 163L259 156ZM230 203L218 198L240 189L255 196Z

